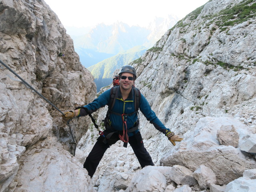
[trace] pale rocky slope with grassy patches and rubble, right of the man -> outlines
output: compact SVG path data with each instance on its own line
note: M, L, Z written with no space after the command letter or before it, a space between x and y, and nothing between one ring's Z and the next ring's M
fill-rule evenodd
M132 62L136 87L184 140L172 146L140 114L156 166L138 171L130 146L111 146L93 177L98 191L256 190L255 8L253 0L209 1ZM80 141L86 155L94 135Z

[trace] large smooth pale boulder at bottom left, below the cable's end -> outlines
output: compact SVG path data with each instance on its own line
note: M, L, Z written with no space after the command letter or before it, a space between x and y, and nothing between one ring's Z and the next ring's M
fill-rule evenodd
M22 191L81 191L94 192L92 180L78 159L57 142L48 137L38 142L20 158L22 166L11 187Z

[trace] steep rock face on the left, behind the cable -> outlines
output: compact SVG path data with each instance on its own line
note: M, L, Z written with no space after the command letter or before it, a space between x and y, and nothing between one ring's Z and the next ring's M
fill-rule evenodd
M63 112L95 97L92 75L43 0L0 0L0 60ZM92 191L67 151L74 145L60 112L2 64L0 74L0 191ZM87 125L72 130L76 142Z

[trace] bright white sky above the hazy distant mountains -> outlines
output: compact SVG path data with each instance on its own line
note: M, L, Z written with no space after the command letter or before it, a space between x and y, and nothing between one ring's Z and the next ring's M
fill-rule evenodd
M148 26L157 17L176 15L180 19L208 0L44 0L62 24L86 27L116 21Z

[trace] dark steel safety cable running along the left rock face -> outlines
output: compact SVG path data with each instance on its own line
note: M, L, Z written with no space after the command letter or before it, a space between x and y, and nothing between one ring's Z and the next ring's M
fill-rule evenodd
M36 92L41 98L43 98L46 102L48 102L51 106L53 106L56 110L58 110L62 115L65 115L61 110L59 110L54 104L52 104L48 99L46 99L42 94L40 94L37 90L35 90L32 86L30 86L30 84L28 84L24 79L22 79L16 72L14 72L10 67L8 67L6 64L4 64L4 62L2 62L0 60L0 63L5 66L10 72L12 72L16 77L18 77L22 82L24 82L24 84L26 86L28 86L30 89L32 89L34 92ZM75 127L75 124L74 124L74 121L72 119L68 120L67 122L67 125L70 129L70 133L71 133L71 136L72 136L72 140L73 142L70 142L69 144L74 144L75 145L75 150L74 150L74 156L75 156L75 153L76 153L76 142L74 140L74 137L73 137L73 134L72 134L72 129L71 128L74 128Z

